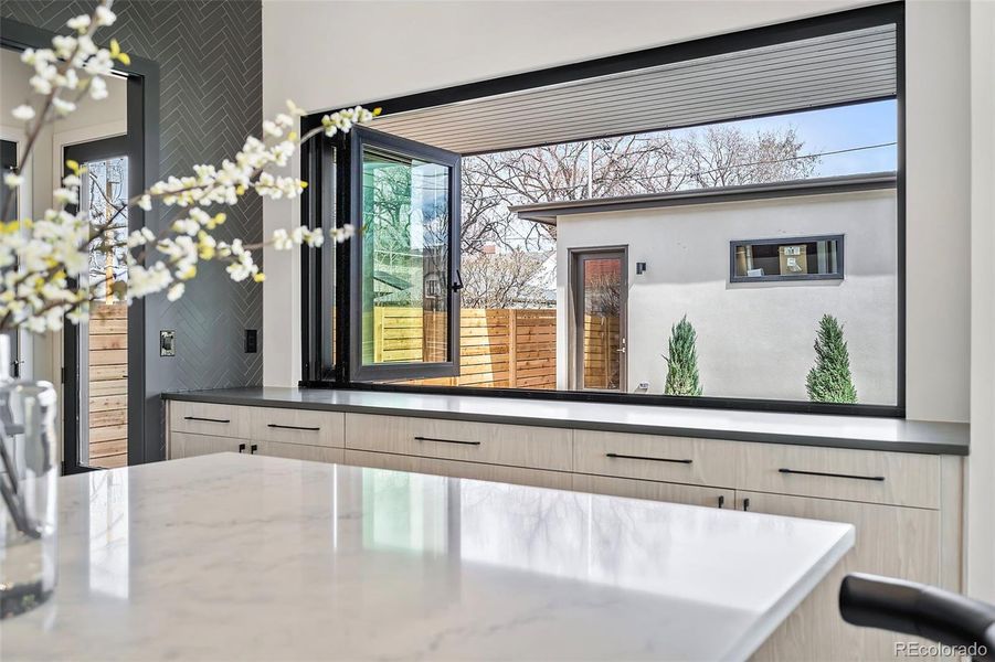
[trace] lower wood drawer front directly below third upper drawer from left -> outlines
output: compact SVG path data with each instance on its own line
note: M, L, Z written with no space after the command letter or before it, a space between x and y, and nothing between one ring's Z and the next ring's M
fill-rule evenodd
M346 463L357 467L412 471L452 478L472 478L474 480L490 480L537 488L554 488L558 490L569 490L571 484L570 474L558 471L519 469L500 465L478 465L476 462L438 460L387 452L367 452L363 450L346 450Z

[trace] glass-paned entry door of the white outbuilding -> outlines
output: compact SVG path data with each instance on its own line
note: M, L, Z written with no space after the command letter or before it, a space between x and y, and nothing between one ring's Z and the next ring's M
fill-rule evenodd
M626 391L625 249L573 252L574 387Z

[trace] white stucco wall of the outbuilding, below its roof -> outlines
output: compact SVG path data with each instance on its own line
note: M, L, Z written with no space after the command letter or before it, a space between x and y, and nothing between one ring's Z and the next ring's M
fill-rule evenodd
M663 393L670 325L698 333L705 395L807 401L816 324L844 324L859 402L896 399L895 190L560 216L558 387L568 385L569 249L627 245L627 389ZM729 242L845 235L845 278L729 282ZM636 275L644 261L646 273Z

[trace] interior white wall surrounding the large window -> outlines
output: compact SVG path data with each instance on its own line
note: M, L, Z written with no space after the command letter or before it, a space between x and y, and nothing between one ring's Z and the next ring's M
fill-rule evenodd
M308 110L371 102L867 4L780 2L321 2L264 0L267 114L294 98ZM908 415L968 415L967 4L907 6L909 264ZM266 202L266 232L299 209ZM296 252L265 256L264 382L300 373Z

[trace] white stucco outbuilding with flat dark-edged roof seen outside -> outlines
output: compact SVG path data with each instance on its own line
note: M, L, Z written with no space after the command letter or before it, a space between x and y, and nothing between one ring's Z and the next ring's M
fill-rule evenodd
M583 387L579 260L602 255L623 264L617 344L625 351L611 349L622 357L620 389L663 393L670 327L686 314L698 335L703 395L805 401L816 325L828 313L844 324L859 403L896 404L899 234L892 175L516 211L557 226L558 388ZM749 276L748 245L756 255L762 247L773 253L766 261L751 261Z

